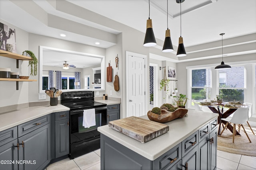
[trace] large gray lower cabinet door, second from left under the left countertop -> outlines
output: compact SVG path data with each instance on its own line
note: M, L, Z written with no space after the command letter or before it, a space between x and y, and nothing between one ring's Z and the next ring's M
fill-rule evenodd
M18 143L19 160L26 160L26 163L18 165L19 170L43 169L50 163L50 124L19 137Z

